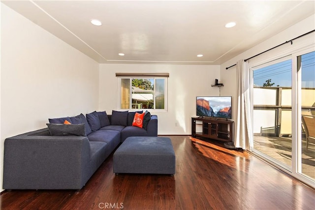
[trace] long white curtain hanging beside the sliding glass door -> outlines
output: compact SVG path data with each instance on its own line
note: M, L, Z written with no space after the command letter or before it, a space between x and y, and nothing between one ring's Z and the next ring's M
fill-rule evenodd
M234 147L252 148L252 117L250 102L250 69L248 61L239 60L237 69L237 114L234 132Z

